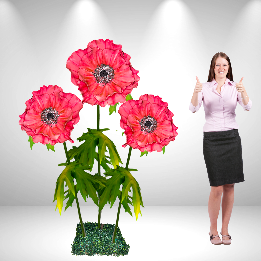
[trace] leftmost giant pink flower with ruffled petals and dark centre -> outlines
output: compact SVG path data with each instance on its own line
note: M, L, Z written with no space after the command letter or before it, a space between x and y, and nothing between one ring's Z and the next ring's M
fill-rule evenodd
M69 140L73 125L79 122L83 105L72 93L64 93L57 85L40 87L26 103L19 124L34 143L54 145Z

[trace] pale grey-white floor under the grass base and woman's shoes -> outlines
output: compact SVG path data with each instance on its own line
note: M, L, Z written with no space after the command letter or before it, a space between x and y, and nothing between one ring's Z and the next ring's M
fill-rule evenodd
M80 208L84 222L97 222L96 206ZM79 223L76 206L66 212L63 208L61 216L53 206L0 206L0 259L260 260L260 206L234 206L229 225L232 244L217 246L210 243L207 206L146 206L141 212L136 221L121 209L119 227L130 246L127 256L89 257L71 254ZM105 206L101 222L114 224L116 215L117 206Z

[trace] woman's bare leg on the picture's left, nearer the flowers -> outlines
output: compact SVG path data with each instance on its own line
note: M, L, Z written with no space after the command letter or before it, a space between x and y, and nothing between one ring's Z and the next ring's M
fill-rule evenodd
M223 192L223 186L211 186L209 194L209 218L210 218L210 235L218 235L217 232L217 217L220 210L220 200ZM222 201L223 202L223 201ZM213 240L220 239L218 236Z

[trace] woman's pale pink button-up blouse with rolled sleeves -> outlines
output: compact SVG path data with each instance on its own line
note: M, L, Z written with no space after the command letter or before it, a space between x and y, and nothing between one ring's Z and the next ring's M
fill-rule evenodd
M189 105L189 110L197 112L203 101L206 118L203 132L238 129L239 126L235 120L236 102L244 110L250 110L252 106L250 99L247 105L243 104L241 93L235 88L235 82L226 78L220 94L216 90L217 85L216 80L203 83L202 90L198 93L198 106L195 107L191 102Z

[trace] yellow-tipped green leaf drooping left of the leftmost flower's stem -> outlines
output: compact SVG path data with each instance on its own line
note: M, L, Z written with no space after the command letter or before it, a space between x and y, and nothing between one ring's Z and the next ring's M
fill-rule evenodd
M71 171L76 168L76 164L77 163L74 161L71 164L67 165L56 181L54 201L57 200L57 204L56 204L55 211L58 207L60 215L62 213L63 200L64 200L64 182L66 184L65 186L68 186L69 188L69 193L72 193L75 196L74 182L73 182L73 177L71 175Z

